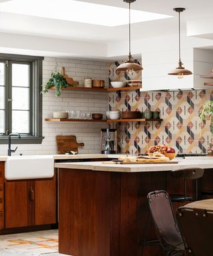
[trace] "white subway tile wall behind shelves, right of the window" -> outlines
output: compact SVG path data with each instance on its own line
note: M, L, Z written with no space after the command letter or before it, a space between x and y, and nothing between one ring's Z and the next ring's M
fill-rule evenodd
M108 87L108 63L103 61L89 61L83 59L61 59L45 57L43 61L43 85L49 81L51 73L65 67L66 74L79 81L83 86L84 78L105 80ZM63 91L61 97L55 97L54 91L43 95L43 119L52 118L53 111L67 111L78 109L85 113L103 113L107 110L107 93L86 91ZM101 128L107 127L106 123L51 123L43 120L43 143L41 145L17 145L18 149L13 155L44 155L57 153L57 135L76 135L78 142L85 143L79 147L79 153L101 152ZM12 148L16 145L12 145ZM7 145L1 145L0 155L7 155Z

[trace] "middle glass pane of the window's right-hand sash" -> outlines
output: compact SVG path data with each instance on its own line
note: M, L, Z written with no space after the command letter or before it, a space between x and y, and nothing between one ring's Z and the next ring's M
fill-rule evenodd
M13 87L12 109L29 110L29 88Z

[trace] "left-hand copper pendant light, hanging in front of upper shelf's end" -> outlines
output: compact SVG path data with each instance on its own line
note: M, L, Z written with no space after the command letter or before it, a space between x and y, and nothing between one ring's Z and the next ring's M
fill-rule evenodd
M128 61L125 61L125 63L120 64L116 68L116 73L120 73L121 71L126 72L128 75L132 74L133 71L140 71L142 70L142 66L135 63L134 59L131 55L131 19L130 19L130 14L131 14L131 9L130 9L130 4L133 3L136 0L123 0L125 3L128 3L128 13L129 13L129 22L128 22L128 47L129 47L129 54L128 54Z

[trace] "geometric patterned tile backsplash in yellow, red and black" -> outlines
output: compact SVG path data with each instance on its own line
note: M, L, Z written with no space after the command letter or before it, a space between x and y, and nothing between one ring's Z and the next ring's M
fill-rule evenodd
M112 65L110 65L112 67ZM138 79L138 78L137 78ZM122 79L123 80L123 79ZM207 153L212 139L210 123L200 124L198 113L212 90L197 91L117 91L108 95L110 111L160 111L162 123L120 123L118 151L145 153L152 145L166 144L180 153Z

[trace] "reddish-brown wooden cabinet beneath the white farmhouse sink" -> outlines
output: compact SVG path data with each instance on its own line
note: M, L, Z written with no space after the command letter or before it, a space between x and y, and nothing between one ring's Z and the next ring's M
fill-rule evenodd
M7 181L0 162L0 230L57 223L57 179Z

